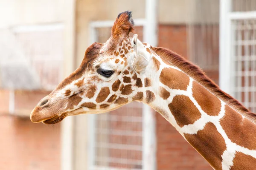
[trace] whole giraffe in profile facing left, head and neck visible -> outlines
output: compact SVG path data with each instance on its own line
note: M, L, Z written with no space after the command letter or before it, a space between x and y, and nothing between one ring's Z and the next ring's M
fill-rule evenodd
M214 169L255 169L256 114L175 52L130 37L133 26L131 12L120 13L107 42L87 48L79 68L35 106L31 121L55 124L143 102Z

